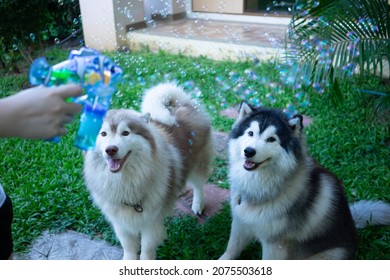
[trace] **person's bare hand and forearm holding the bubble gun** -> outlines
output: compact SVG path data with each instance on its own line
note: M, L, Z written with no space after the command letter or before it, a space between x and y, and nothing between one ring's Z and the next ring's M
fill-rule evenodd
M82 110L65 99L81 93L78 85L37 86L0 100L0 136L49 139L65 135L64 125Z

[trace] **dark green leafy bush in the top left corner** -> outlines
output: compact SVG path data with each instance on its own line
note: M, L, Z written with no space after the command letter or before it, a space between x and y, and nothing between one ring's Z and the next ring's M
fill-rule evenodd
M23 72L35 53L77 35L80 7L75 0L0 1L0 70Z

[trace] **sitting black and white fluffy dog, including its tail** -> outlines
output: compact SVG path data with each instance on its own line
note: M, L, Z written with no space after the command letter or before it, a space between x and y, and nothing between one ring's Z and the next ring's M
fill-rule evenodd
M390 205L348 204L340 180L307 155L302 116L243 102L229 140L232 228L221 259L252 240L263 259L351 259L356 227L390 224Z

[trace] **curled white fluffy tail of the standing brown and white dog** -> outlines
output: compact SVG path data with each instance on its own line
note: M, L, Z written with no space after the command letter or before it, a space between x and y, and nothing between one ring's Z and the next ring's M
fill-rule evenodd
M192 100L181 87L174 83L162 83L145 92L141 111L150 113L155 121L174 125L176 109L188 105L192 105Z

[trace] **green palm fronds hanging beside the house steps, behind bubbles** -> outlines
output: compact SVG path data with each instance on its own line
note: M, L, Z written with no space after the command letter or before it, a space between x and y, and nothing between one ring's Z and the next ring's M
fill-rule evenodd
M390 60L387 0L300 1L286 40L290 83L331 90L340 101L340 81L359 73L384 75ZM388 73L387 73L388 75Z

